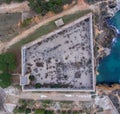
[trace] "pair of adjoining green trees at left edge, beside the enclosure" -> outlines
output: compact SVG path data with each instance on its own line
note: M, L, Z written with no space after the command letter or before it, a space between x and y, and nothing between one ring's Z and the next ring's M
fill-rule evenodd
M10 71L16 68L15 56L12 53L3 53L0 55L0 86L6 88L11 84Z

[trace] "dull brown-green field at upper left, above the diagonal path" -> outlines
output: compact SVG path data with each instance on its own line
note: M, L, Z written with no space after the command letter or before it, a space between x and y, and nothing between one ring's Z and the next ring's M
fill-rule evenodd
M21 21L21 13L0 14L0 41L9 41L19 32L18 23Z

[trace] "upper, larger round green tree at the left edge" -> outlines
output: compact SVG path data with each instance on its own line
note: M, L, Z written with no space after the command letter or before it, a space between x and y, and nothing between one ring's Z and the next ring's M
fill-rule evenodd
M0 55L0 70L9 72L16 68L16 59L13 53L3 53Z

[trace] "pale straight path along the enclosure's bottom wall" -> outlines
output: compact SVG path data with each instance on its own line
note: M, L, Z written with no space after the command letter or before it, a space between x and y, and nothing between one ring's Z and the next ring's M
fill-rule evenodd
M79 93L31 93L21 92L19 98L35 100L91 101L91 95Z

